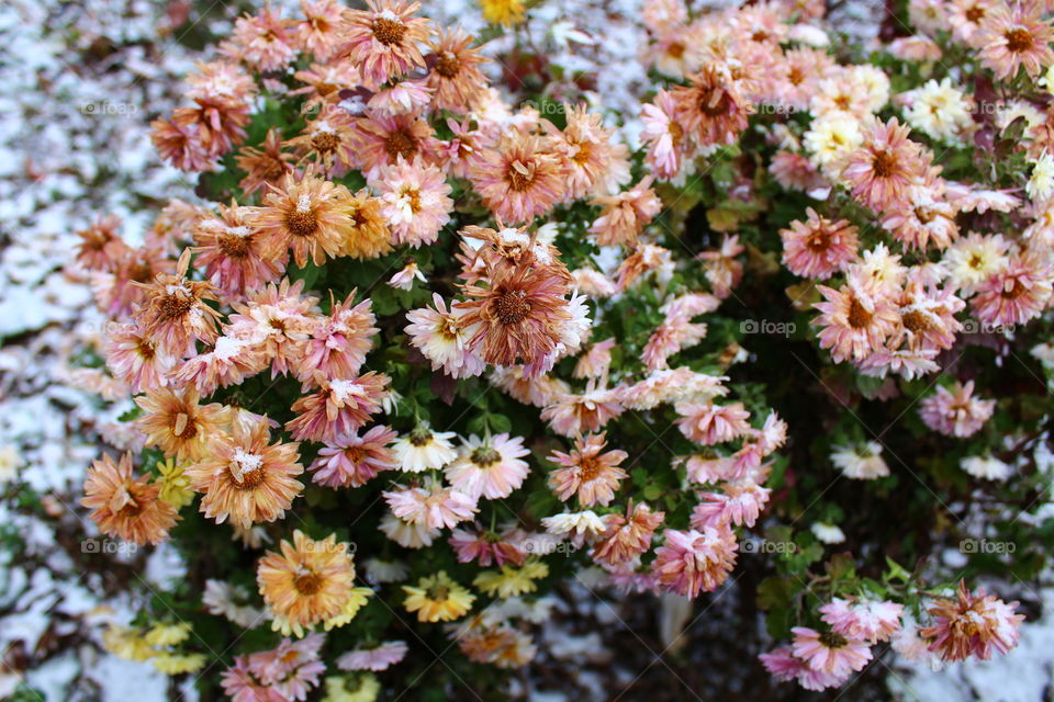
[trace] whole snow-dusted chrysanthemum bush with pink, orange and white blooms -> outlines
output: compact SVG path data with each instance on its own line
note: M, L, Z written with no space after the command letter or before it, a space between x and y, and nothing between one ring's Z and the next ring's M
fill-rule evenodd
M1047 7L912 2L873 47L822 14L646 2L635 114L492 84L416 3L238 20L153 125L202 203L78 251L136 405L83 505L189 566L111 649L243 702L500 688L561 581L720 607L738 571L810 690L1012 648L993 588L1051 534Z

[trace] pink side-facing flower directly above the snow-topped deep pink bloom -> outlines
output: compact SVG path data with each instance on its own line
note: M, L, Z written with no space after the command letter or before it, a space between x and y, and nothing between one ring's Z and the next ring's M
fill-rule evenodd
M301 382L311 382L315 373L327 378L355 377L366 363L366 354L373 348L372 337L380 329L373 326L373 302L366 298L355 305L355 295L351 291L347 299L333 305L328 317L317 320L296 369Z

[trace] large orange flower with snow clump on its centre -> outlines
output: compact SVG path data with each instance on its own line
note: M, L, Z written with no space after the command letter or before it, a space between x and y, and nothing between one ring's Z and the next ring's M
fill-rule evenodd
M231 434L209 444L209 457L187 468L190 487L204 492L201 511L222 524L227 517L244 529L272 522L285 513L304 489L295 479L304 472L298 463L299 444L269 444L266 417L233 422Z

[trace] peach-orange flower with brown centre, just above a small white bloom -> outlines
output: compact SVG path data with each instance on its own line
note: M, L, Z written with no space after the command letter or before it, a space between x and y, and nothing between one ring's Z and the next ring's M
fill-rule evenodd
M549 460L563 466L549 474L549 487L562 501L576 495L582 507L610 505L615 490L629 475L619 467L629 454L621 450L604 451L604 433L575 439L571 453L553 451Z

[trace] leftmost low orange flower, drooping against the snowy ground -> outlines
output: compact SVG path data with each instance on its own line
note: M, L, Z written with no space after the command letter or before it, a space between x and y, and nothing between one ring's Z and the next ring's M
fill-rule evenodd
M108 536L158 544L168 537L177 519L176 508L159 499L160 491L146 476L133 476L131 453L117 464L103 455L88 471L80 503L92 510L91 520Z

